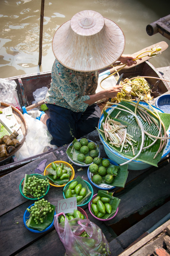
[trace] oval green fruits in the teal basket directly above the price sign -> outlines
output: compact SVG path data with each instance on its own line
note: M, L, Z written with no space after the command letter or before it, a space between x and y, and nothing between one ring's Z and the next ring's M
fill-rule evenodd
M77 180L74 180L70 183L68 189L66 190L65 197L73 197L75 196L77 198L77 203L83 199L83 197L86 196L86 188L82 188L81 183L78 184Z

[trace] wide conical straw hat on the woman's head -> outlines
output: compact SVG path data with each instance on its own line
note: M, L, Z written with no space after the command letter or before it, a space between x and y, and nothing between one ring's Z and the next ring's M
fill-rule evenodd
M124 51L125 36L112 20L95 11L82 11L55 32L52 49L58 61L77 71L108 67Z

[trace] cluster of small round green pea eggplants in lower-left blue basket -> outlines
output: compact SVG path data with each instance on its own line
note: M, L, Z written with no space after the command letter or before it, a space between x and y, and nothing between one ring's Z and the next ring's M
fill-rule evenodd
M40 221L43 223L44 219L47 219L47 213L52 212L54 209L51 208L50 202L42 198L39 201L35 201L35 204L29 208L27 211L30 213L32 217L34 217L35 223L38 225Z

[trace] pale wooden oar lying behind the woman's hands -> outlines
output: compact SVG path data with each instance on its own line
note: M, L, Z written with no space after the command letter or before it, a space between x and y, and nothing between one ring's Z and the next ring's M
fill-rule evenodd
M137 56L137 55L139 55L139 54L142 53L142 52L149 51L149 50L151 50L151 48L153 48L154 46L159 46L159 47L161 47L161 52L165 51L165 50L168 48L168 44L167 44L166 42L162 41L162 42L159 42L159 43L156 43L156 44L152 44L151 46L148 46L148 47L146 47L146 48L144 48L144 49L142 49L142 50L140 50L140 51L138 51L138 52L135 52L135 53L133 53L133 55ZM149 52L148 52L148 53L149 53ZM147 54L147 53L144 53L144 54L142 54L142 55L146 55L146 54ZM141 57L142 57L142 55L141 55ZM140 57L140 56L139 56L139 57ZM133 67L135 67L136 65L141 64L142 62L144 62L144 61L146 61L146 60L149 60L149 59L151 59L151 58L153 58L153 57L148 57L148 56L143 57L142 60L136 60L136 64L133 64L133 65L130 66L130 67L126 66L126 67L124 67L123 69L133 68ZM122 66L117 65L115 68L116 68L116 70L118 70L119 68L122 68ZM106 71L100 73L99 76L110 75L110 74L112 74L113 72L115 72L115 68L110 68L110 69L108 69L108 70L106 70Z

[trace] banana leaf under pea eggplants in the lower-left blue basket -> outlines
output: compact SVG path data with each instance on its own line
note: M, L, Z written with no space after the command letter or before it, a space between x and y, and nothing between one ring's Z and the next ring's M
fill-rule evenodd
M39 231L43 231L44 229L48 228L54 219L54 213L56 208L56 206L53 204L50 204L50 206L51 208L53 208L53 211L47 212L47 219L44 219L43 223L38 222L38 224L36 224L34 221L34 217L30 216L30 218L26 221L27 227Z

